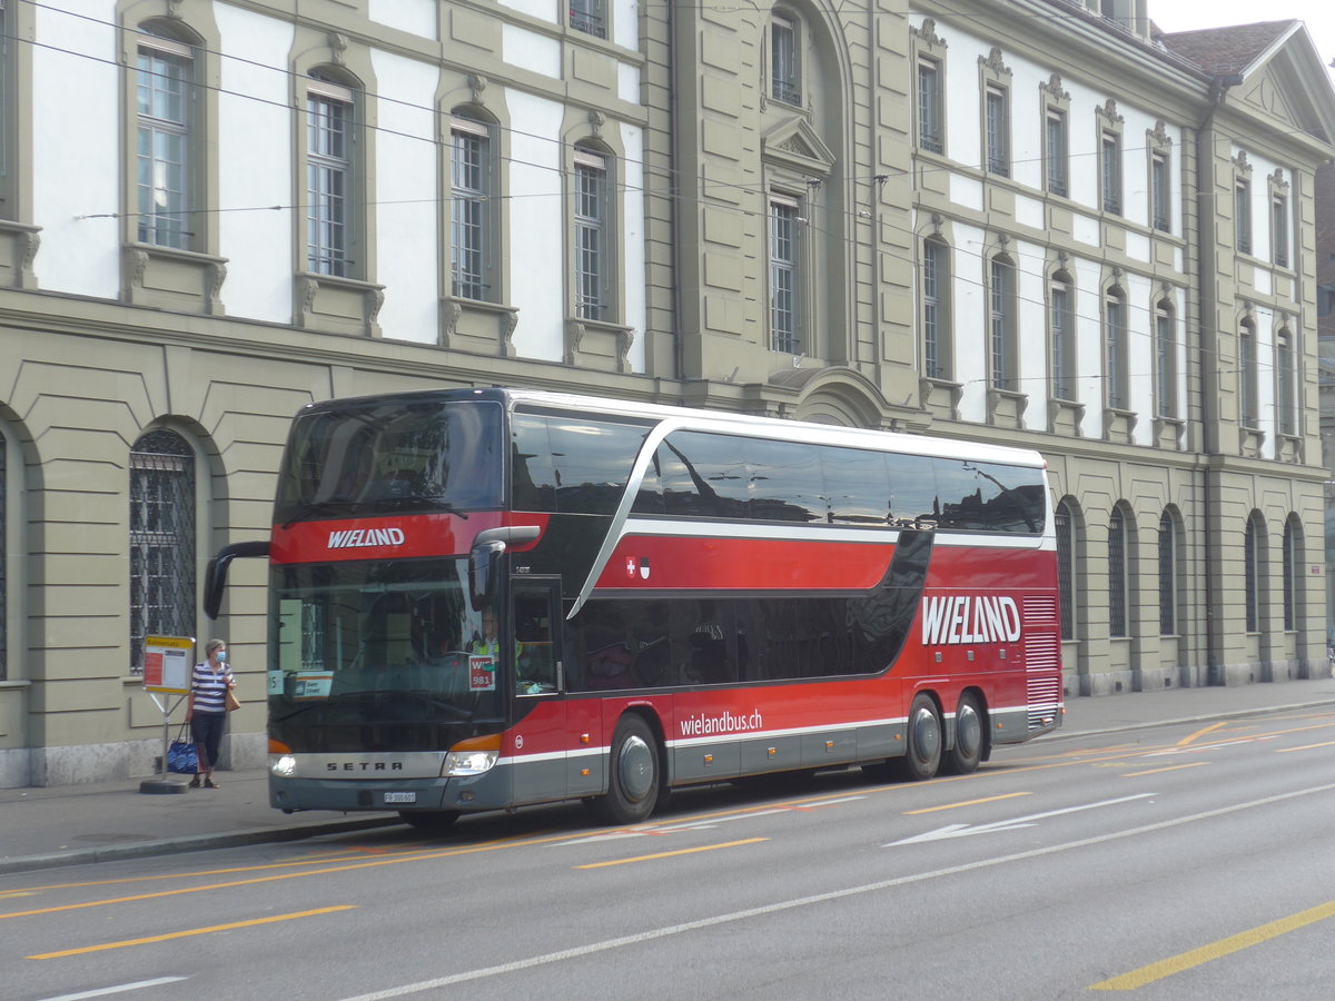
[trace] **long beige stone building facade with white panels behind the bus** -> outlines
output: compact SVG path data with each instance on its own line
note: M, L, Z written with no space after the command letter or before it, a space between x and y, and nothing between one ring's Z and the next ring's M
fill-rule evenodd
M1040 450L1071 695L1324 666L1300 23L1144 0L4 4L0 785L146 774L148 633L264 751L291 415L579 388Z

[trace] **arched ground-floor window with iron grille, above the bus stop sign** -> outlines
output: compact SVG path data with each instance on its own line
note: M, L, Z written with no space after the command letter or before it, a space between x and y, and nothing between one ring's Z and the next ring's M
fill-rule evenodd
M144 637L195 635L195 452L159 428L129 452L131 673Z

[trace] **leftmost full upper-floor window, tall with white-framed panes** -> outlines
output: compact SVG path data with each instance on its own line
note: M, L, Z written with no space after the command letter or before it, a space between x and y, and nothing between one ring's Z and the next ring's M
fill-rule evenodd
M140 36L138 240L186 250L190 203L190 45Z

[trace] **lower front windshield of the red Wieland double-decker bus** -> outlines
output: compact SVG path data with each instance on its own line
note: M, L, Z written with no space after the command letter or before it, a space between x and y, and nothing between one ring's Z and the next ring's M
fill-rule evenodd
M276 566L270 594L270 735L291 750L437 750L503 717L467 561Z

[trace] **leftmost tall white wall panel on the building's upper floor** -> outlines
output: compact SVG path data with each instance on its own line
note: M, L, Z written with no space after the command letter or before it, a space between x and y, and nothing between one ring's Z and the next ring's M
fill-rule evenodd
M51 292L115 299L120 292L120 67L115 5L68 0L33 8L35 268ZM111 164L111 167L108 167Z

